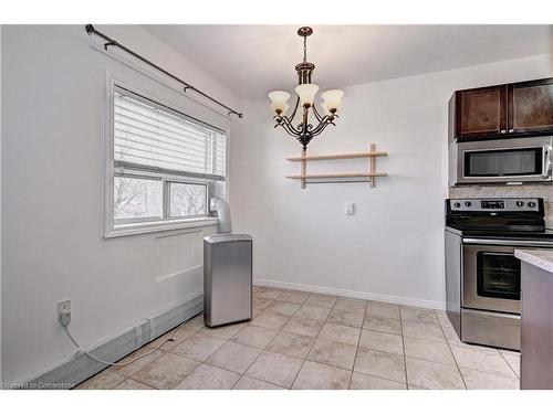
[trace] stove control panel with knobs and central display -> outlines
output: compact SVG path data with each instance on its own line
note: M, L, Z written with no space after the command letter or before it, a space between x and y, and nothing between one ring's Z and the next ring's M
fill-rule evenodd
M447 201L451 211L472 212L524 212L540 211L540 199L450 199Z

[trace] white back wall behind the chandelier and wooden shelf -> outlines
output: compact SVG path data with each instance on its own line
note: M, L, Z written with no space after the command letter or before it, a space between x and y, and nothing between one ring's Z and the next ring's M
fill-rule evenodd
M284 178L299 173L299 164L285 160L300 153L299 142L273 128L268 102L246 104L246 121L233 131L230 180L248 184L233 185L231 205L236 230L254 237L254 277L441 307L448 99L456 89L549 73L550 57L542 55L346 88L337 126L315 138L309 152L362 151L376 142L389 151L377 163L389 177L378 179L375 189L344 183L301 190ZM353 171L367 164L342 162L324 168ZM353 216L345 214L348 202L357 206Z

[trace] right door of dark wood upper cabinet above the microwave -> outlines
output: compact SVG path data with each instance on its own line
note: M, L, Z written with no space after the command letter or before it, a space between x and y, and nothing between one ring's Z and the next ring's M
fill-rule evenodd
M553 78L509 85L509 134L553 134Z

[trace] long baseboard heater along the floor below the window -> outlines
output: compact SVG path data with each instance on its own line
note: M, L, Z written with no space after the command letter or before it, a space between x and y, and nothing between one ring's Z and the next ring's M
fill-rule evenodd
M86 350L104 361L118 361L202 310L204 295L196 294L184 304L142 319L107 339L86 347ZM84 354L72 355L56 361L41 370L41 372L35 372L24 379L10 381L11 385L9 388L29 390L72 389L105 368L105 364L96 362Z

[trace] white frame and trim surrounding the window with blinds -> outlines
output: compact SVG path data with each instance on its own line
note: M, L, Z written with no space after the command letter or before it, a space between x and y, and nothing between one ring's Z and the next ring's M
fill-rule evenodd
M165 85L163 85L165 87ZM225 176L201 174L201 173L184 173L181 171L159 170L156 167L143 167L131 162L118 162L114 158L114 93L119 89L126 89L134 95L138 95L143 99L153 100L155 104L188 117L191 121L204 124L210 128L217 129L226 136L226 163ZM189 109L185 109L174 102L159 96L144 87L129 85L118 78L111 76L106 72L105 85L105 114L104 114L104 237L118 237L132 234L143 234L153 232L163 232L187 227L218 225L219 220L211 211L209 200L218 197L217 182L222 182L222 191L228 192L228 160L229 160L229 128L213 126L200 120L196 114ZM188 115L190 114L190 115ZM114 178L129 177L136 179L160 180L163 189L161 217L152 220L150 217L136 219L115 219L114 214ZM206 185L206 215L191 216L170 216L170 197L169 185L171 182L184 184L202 184Z

